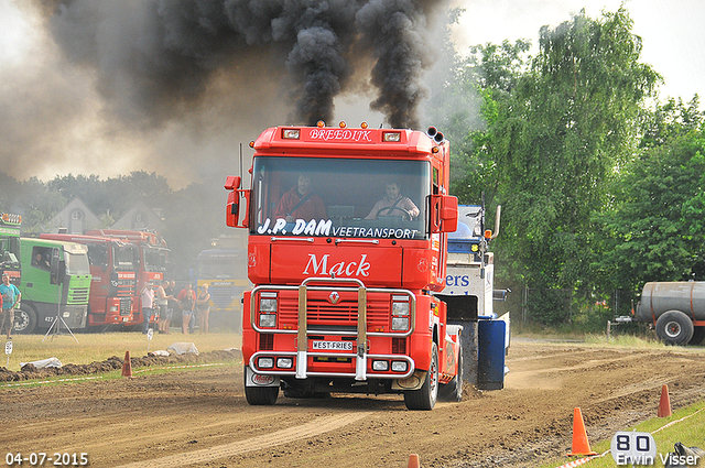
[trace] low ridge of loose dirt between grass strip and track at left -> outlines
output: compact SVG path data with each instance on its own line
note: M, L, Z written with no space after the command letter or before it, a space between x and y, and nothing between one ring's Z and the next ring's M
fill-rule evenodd
M200 352L198 355L175 355L170 356L155 356L150 352L141 358L130 357L130 363L132 369L141 367L152 366L165 366L174 363L208 363L208 362L223 362L234 361L241 359L242 355L237 349L224 349L210 352ZM18 382L23 380L46 379L56 376L88 376L95 373L110 372L117 369L122 369L124 359L117 356L111 356L105 361L94 361L88 364L64 364L59 368L44 368L37 369L32 363L26 363L19 372L8 370L0 367L0 382Z

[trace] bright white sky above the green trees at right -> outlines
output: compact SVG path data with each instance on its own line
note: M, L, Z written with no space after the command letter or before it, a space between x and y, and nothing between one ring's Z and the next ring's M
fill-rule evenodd
M616 11L621 0L456 0L465 9L454 26L459 52L474 44L501 43L505 39L531 40L535 46L543 25L556 26L571 13L598 18L603 10ZM705 2L702 0L631 0L625 7L641 36L641 62L660 73L665 84L661 98L690 100L705 94Z

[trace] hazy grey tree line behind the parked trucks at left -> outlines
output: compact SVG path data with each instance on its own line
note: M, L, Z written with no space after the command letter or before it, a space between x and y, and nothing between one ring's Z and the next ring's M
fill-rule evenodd
M226 191L221 184L191 184L174 191L156 173L133 171L129 175L100 179L97 175L55 176L48 182L26 181L0 172L0 210L22 215L22 235L44 232L48 221L70 200L79 197L99 217L100 228L110 227L140 202L162 210L170 266L167 274L187 277L199 251L210 240L228 235L225 227Z

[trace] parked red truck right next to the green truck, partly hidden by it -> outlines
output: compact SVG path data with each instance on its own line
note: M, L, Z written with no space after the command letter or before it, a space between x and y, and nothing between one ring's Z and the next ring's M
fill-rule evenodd
M88 247L90 295L88 327L134 323L138 250L132 243L98 236L42 233L40 239L76 242Z

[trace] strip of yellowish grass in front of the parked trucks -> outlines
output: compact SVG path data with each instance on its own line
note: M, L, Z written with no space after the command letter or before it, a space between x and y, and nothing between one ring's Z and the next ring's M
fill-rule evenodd
M240 348L241 337L236 333L214 333L208 335L183 335L174 333L171 335L154 335L152 340L148 340L147 335L140 331L117 331L96 334L75 334L76 339L70 335L15 335L12 338L12 353L0 355L0 367L19 371L20 362L32 362L47 358L58 358L63 364L87 364L94 361L104 361L111 356L124 358L124 352L130 351L130 356L141 357L149 351L166 349L173 342L193 342L200 352L215 351L218 349ZM0 340L2 349L6 349L4 337Z

